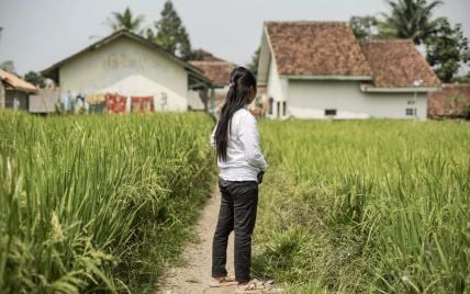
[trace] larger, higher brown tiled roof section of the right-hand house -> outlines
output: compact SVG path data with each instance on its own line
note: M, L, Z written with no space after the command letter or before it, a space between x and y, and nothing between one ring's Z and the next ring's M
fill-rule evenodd
M266 22L279 75L368 77L371 69L346 22Z

